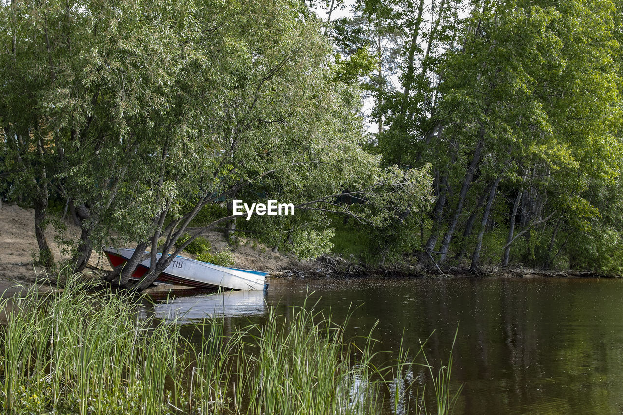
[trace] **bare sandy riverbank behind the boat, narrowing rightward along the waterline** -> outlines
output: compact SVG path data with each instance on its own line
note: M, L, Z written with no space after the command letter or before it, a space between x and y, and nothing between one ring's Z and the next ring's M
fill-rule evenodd
M34 263L37 254L37 240L34 234L34 211L23 209L16 204L4 204L0 209L0 290L15 284L31 284L44 274L45 269ZM60 219L59 219L60 221ZM77 241L80 228L68 217L62 221L65 231L49 226L47 239L55 260L69 258L67 246L63 241ZM315 261L300 261L292 254L272 252L269 247L250 238L239 237L234 246L229 246L222 232L204 232L212 249L221 251L231 249L234 266L243 269L264 270L273 278L418 278L418 277L607 277L590 271L557 271L528 268L502 268L483 266L480 274L474 275L461 267L437 269L421 265L364 265L338 256L322 256ZM184 256L194 258L188 252ZM110 270L102 252L93 251L85 274L98 274Z

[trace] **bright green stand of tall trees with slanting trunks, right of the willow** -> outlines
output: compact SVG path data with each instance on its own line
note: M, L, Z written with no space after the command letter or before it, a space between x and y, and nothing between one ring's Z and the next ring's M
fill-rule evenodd
M394 53L389 60L375 55L379 74L399 68L400 85L370 77L371 120L383 125L374 144L385 163L432 164L442 203L424 221L432 226L422 257L442 264L469 251L463 257L473 252L476 265L478 257L495 264L512 240L515 264L551 267L569 258L566 266L617 272L619 241L611 236L623 227L620 216L612 220L621 201L611 192L623 160L621 2L461 2L467 13L456 6L366 0L333 32L347 56L401 33L384 51ZM494 183L485 212L488 198L480 196ZM419 225L388 221L375 230L381 246L370 249L407 260L422 249L412 236ZM587 261L581 249L592 252Z

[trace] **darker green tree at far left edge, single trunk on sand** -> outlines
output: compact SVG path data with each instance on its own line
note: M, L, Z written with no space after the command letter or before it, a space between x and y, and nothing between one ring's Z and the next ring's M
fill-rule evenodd
M7 193L34 207L34 229L39 244L39 261L53 262L45 237L47 204L54 176L53 139L40 98L54 84L57 70L50 42L44 37L46 17L28 14L23 2L0 6L0 124L3 133L4 180ZM18 17L21 16L22 18ZM54 17L52 17L54 19ZM37 27L37 26L42 27ZM37 39L38 37L38 39ZM57 56L58 57L58 56ZM67 54L65 59L71 59ZM4 187L4 186L1 186Z

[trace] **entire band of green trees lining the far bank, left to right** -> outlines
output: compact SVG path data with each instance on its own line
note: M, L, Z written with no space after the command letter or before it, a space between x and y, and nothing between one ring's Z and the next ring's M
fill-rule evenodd
M289 0L3 4L0 194L85 207L94 246L209 226L225 199L277 199L295 216L237 226L300 258L468 246L493 263L524 232L516 264L617 274L622 7L363 0L326 24ZM363 133L362 95L376 135ZM363 241L334 237L335 214L362 222Z

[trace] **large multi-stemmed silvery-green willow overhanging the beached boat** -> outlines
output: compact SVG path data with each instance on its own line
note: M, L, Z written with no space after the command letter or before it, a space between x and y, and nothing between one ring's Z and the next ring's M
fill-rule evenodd
M13 25L4 41L32 49L16 59L34 77L41 122L29 136L49 140L50 186L80 213L76 270L93 246L135 241L133 258L107 279L131 286L150 256L135 286L143 289L198 236L175 247L202 207L246 189L245 198L270 192L318 215L343 211L345 192L376 207L427 198L426 171L384 170L362 150L358 90L336 80L321 24L298 2L14 4L1 9ZM42 169L30 174L40 183ZM321 234L326 221L314 223Z

